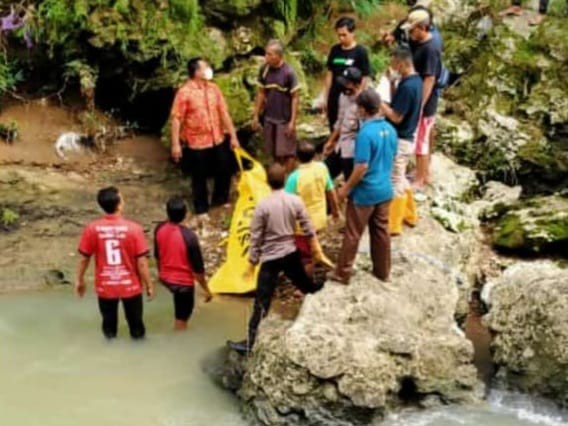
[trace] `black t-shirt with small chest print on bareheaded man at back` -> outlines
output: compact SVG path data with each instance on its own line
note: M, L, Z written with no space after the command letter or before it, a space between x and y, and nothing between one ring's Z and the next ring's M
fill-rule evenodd
M369 54L363 46L356 45L352 49L345 50L340 44L336 44L331 48L327 57L327 69L333 74L333 82L329 91L329 97L339 99L341 94L341 86L337 83L337 77L343 74L343 71L349 67L359 68L361 74L367 77L371 75L371 65L369 63Z

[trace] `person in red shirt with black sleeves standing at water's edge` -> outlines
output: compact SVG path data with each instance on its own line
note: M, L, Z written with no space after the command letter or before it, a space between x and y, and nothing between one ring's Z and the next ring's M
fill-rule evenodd
M174 299L174 329L187 329L187 321L195 304L195 281L205 291L205 301L211 301L211 292L205 278L203 256L197 235L183 224L187 205L183 199L171 198L167 205L168 221L154 231L154 256L162 284Z

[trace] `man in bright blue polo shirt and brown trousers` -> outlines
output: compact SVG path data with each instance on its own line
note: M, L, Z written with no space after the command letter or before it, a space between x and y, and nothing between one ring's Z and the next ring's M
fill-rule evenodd
M391 269L389 206L393 198L392 170L397 153L395 129L380 115L381 98L374 89L357 97L363 125L355 141L353 174L339 189L339 199L348 198L345 236L337 269L329 278L349 283L359 241L369 226L373 274L387 281Z

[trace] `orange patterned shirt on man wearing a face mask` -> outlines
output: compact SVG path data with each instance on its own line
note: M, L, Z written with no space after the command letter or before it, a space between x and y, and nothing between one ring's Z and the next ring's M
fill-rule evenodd
M223 142L226 112L227 104L216 84L189 80L176 93L171 115L180 120L180 136L187 146L205 149Z

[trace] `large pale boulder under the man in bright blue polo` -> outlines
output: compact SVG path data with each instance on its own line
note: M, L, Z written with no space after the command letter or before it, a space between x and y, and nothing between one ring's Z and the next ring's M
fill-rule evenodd
M269 316L240 397L261 424L358 425L409 404L479 401L473 347L457 329L451 275L399 256L392 283L358 272Z

